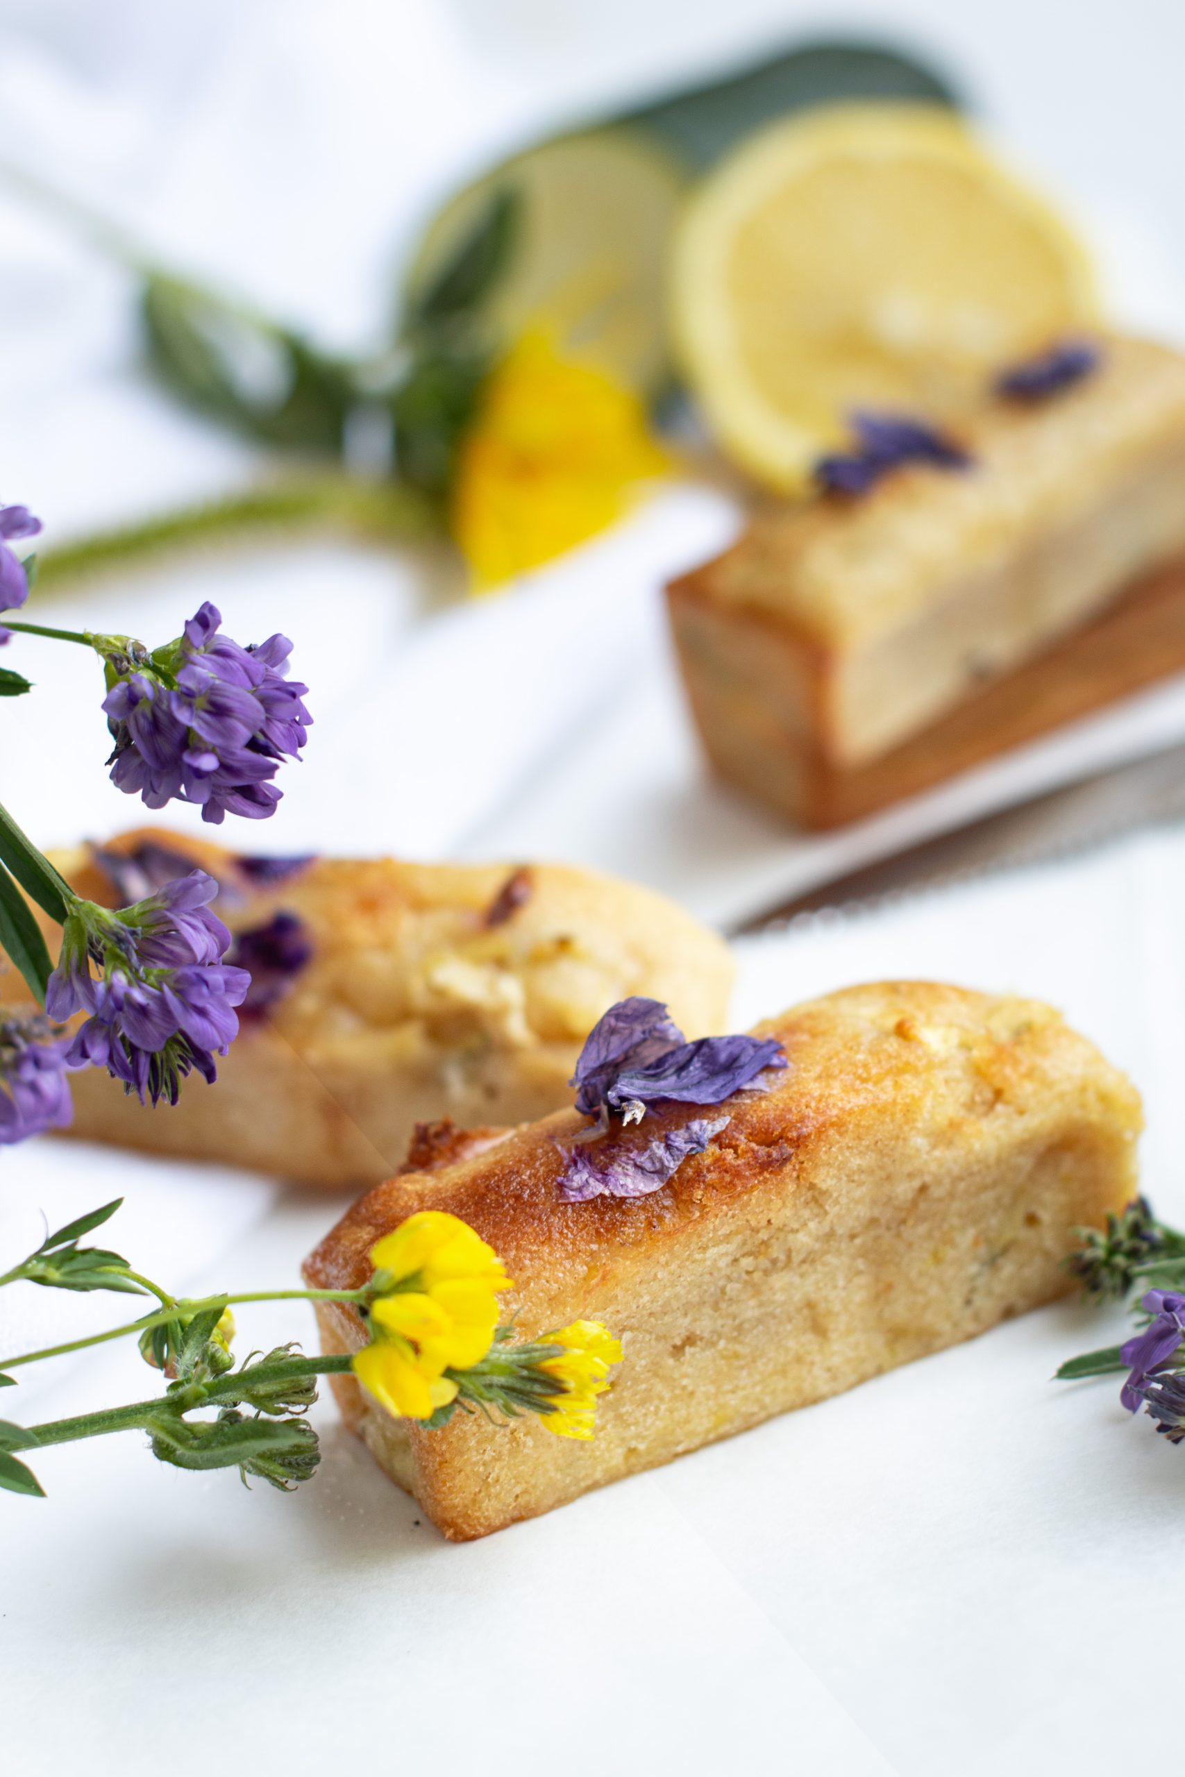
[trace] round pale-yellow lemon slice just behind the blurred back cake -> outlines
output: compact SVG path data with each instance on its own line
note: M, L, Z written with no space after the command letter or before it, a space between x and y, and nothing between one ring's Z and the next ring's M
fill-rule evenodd
M855 407L958 416L1000 366L1094 316L1061 217L931 105L762 130L698 188L673 251L688 382L727 455L782 492Z

